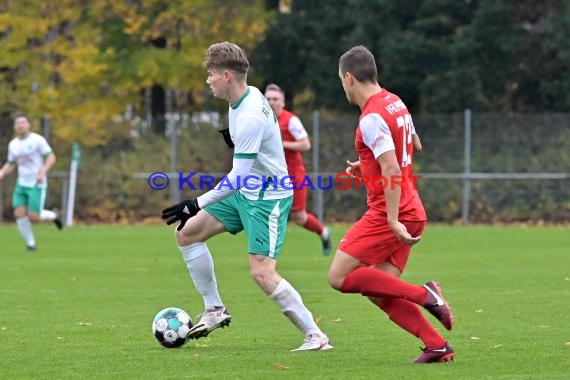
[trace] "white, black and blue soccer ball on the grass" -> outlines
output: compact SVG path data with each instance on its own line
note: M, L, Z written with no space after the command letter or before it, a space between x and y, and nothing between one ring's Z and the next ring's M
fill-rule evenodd
M152 334L166 348L182 347L188 342L192 326L188 313L177 307L167 307L154 317Z

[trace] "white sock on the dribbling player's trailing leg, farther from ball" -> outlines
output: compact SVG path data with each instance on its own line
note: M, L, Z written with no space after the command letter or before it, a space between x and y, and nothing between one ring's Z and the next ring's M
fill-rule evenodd
M313 320L313 314L303 304L299 292L287 280L282 279L269 298L305 336L324 335Z

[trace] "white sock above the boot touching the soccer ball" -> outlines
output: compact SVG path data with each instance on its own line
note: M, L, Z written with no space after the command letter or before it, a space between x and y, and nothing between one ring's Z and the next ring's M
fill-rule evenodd
M178 248L184 257L190 278L204 298L206 310L213 309L214 306L224 306L218 293L214 261L206 243L194 243Z

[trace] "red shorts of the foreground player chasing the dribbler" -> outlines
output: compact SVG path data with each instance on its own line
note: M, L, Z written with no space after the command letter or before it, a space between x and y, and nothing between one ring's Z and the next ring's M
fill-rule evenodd
M401 221L412 236L421 235L426 221ZM386 216L368 210L341 239L338 249L368 265L384 262L404 271L412 247L396 238Z

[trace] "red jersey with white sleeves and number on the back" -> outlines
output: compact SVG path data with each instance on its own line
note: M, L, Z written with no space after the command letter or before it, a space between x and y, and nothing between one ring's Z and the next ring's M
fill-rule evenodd
M386 197L383 186L400 186L399 220L423 221L426 213L412 177L414 124L408 108L402 100L382 89L372 95L362 108L360 122L356 130L355 147L360 159L360 169L364 178L367 203L386 215ZM382 184L382 169L377 158L384 152L395 150L398 165L402 171L401 178L387 178Z

